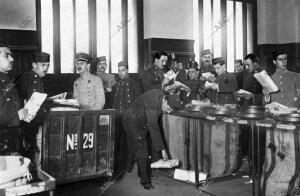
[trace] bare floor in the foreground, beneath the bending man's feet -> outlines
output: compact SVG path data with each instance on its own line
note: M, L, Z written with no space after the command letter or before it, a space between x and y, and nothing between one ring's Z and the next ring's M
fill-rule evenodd
M193 185L158 174L153 179L154 190L145 190L139 184L137 168L125 173L118 180L99 178L72 184L57 186L55 196L251 196L249 178L236 177L203 186L203 191ZM38 195L47 195L45 193Z

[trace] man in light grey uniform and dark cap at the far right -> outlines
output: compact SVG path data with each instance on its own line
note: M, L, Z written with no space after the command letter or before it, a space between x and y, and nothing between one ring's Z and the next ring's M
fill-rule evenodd
M276 72L271 76L279 88L278 92L264 90L265 101L277 102L287 107L300 108L300 74L287 70L287 52L276 50L272 53Z

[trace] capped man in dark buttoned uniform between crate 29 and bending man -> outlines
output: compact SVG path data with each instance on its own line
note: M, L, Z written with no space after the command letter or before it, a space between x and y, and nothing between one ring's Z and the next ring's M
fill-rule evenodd
M141 94L139 84L129 77L127 63L121 61L118 64L120 80L114 86L113 90L113 109L116 109L116 133L115 133L115 169L120 169L122 155L125 153L122 146L124 141L124 128L122 126L122 114L127 107Z

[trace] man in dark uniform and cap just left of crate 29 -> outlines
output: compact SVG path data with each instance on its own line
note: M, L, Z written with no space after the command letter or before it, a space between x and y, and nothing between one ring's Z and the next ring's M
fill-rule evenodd
M49 68L50 55L45 52L35 52L32 58L32 70L22 74L17 81L17 89L21 98L21 103L28 101L34 92L43 93L44 87L42 77L47 74ZM43 106L42 106L43 107ZM39 165L39 154L41 147L37 145L37 135L39 127L43 124L43 112L41 109L30 123L24 122L25 150L32 162Z

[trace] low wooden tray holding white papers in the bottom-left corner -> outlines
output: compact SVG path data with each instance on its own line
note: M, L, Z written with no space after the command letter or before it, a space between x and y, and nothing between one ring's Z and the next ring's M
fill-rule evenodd
M49 191L49 195L53 195L55 179L42 170L38 170L38 178L37 182L0 189L0 196L28 195L44 191Z

